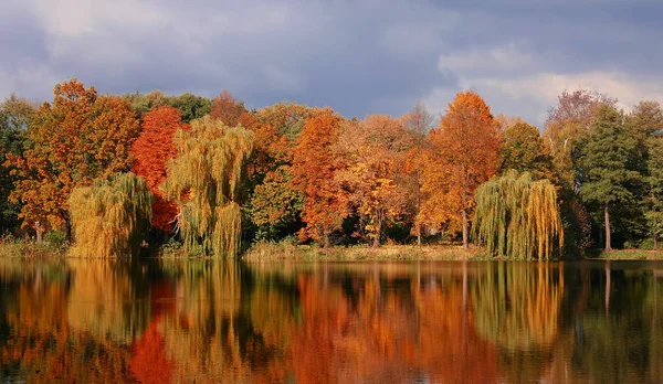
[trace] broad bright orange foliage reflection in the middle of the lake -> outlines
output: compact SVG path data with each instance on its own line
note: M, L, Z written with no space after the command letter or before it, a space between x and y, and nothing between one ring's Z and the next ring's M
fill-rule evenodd
M355 282L356 300L319 276L297 282L304 312L291 350L297 383L404 382L415 373L442 383L498 380L495 348L477 338L459 281L403 292L371 277Z

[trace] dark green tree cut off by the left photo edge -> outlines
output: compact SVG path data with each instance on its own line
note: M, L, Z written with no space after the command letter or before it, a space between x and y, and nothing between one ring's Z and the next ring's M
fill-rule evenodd
M17 216L20 205L9 201L17 178L12 177L12 166L4 164L6 153L21 156L28 127L32 122L36 107L15 95L11 95L0 104L0 233L18 225Z

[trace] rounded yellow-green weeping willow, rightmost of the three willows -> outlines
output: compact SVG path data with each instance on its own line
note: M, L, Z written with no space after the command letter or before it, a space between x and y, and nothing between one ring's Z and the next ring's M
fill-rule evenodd
M548 259L564 228L557 191L548 180L508 171L476 190L474 233L491 253L515 259Z

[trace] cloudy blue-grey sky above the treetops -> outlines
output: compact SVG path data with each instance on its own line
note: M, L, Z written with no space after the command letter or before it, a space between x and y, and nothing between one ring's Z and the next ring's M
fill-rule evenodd
M460 90L541 127L578 87L663 103L663 0L2 0L0 98L160 89L346 117Z

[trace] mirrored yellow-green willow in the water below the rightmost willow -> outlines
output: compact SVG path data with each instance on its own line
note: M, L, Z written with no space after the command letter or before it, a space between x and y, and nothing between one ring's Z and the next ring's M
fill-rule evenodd
M549 345L558 332L562 292L561 266L491 264L472 291L476 329L509 350Z

